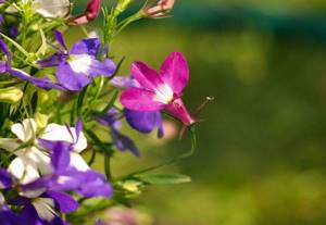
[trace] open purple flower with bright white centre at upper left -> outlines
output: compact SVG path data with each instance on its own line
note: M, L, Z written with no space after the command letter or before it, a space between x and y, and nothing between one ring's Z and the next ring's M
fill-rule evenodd
M62 33L54 30L54 36L62 49L58 53L38 62L42 67L57 67L58 82L68 90L78 91L97 76L111 76L115 72L112 60L97 60L100 52L99 38L77 41L67 50Z

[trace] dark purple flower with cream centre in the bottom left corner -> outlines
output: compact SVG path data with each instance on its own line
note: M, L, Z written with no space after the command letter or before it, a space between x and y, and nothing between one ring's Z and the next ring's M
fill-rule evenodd
M11 190L17 186L12 183L11 175L1 170L1 186L7 190ZM5 184L5 186L3 186ZM54 209L61 213L71 213L78 209L78 203L74 198L65 192L51 190L45 186L45 182L38 182L38 185L20 187L20 196L9 196L10 205L23 207L23 210L15 214L10 207L4 203L4 198L0 192L0 224L4 225L50 225L66 224L57 216ZM7 191L5 191L7 192Z

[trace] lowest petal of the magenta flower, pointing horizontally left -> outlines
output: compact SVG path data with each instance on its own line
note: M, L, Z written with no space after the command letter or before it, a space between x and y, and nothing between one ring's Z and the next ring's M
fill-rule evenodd
M139 88L129 88L121 96L121 103L128 110L135 111L156 111L165 107L165 104L154 101L155 93Z

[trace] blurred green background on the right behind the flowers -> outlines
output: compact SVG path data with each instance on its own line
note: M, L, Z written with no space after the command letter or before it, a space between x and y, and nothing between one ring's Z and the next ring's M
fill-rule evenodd
M192 183L147 189L135 202L155 225L326 224L326 1L176 1L172 17L131 25L113 43L159 68L172 51L189 60L185 101L201 113L198 149L161 172ZM116 175L163 162L189 138L130 130L142 158L116 154ZM99 167L101 165L98 165Z

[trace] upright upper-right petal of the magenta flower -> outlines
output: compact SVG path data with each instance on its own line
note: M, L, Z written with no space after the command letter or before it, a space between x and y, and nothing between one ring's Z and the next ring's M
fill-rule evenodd
M187 60L180 52L171 53L161 66L161 77L175 93L183 92L189 80Z

